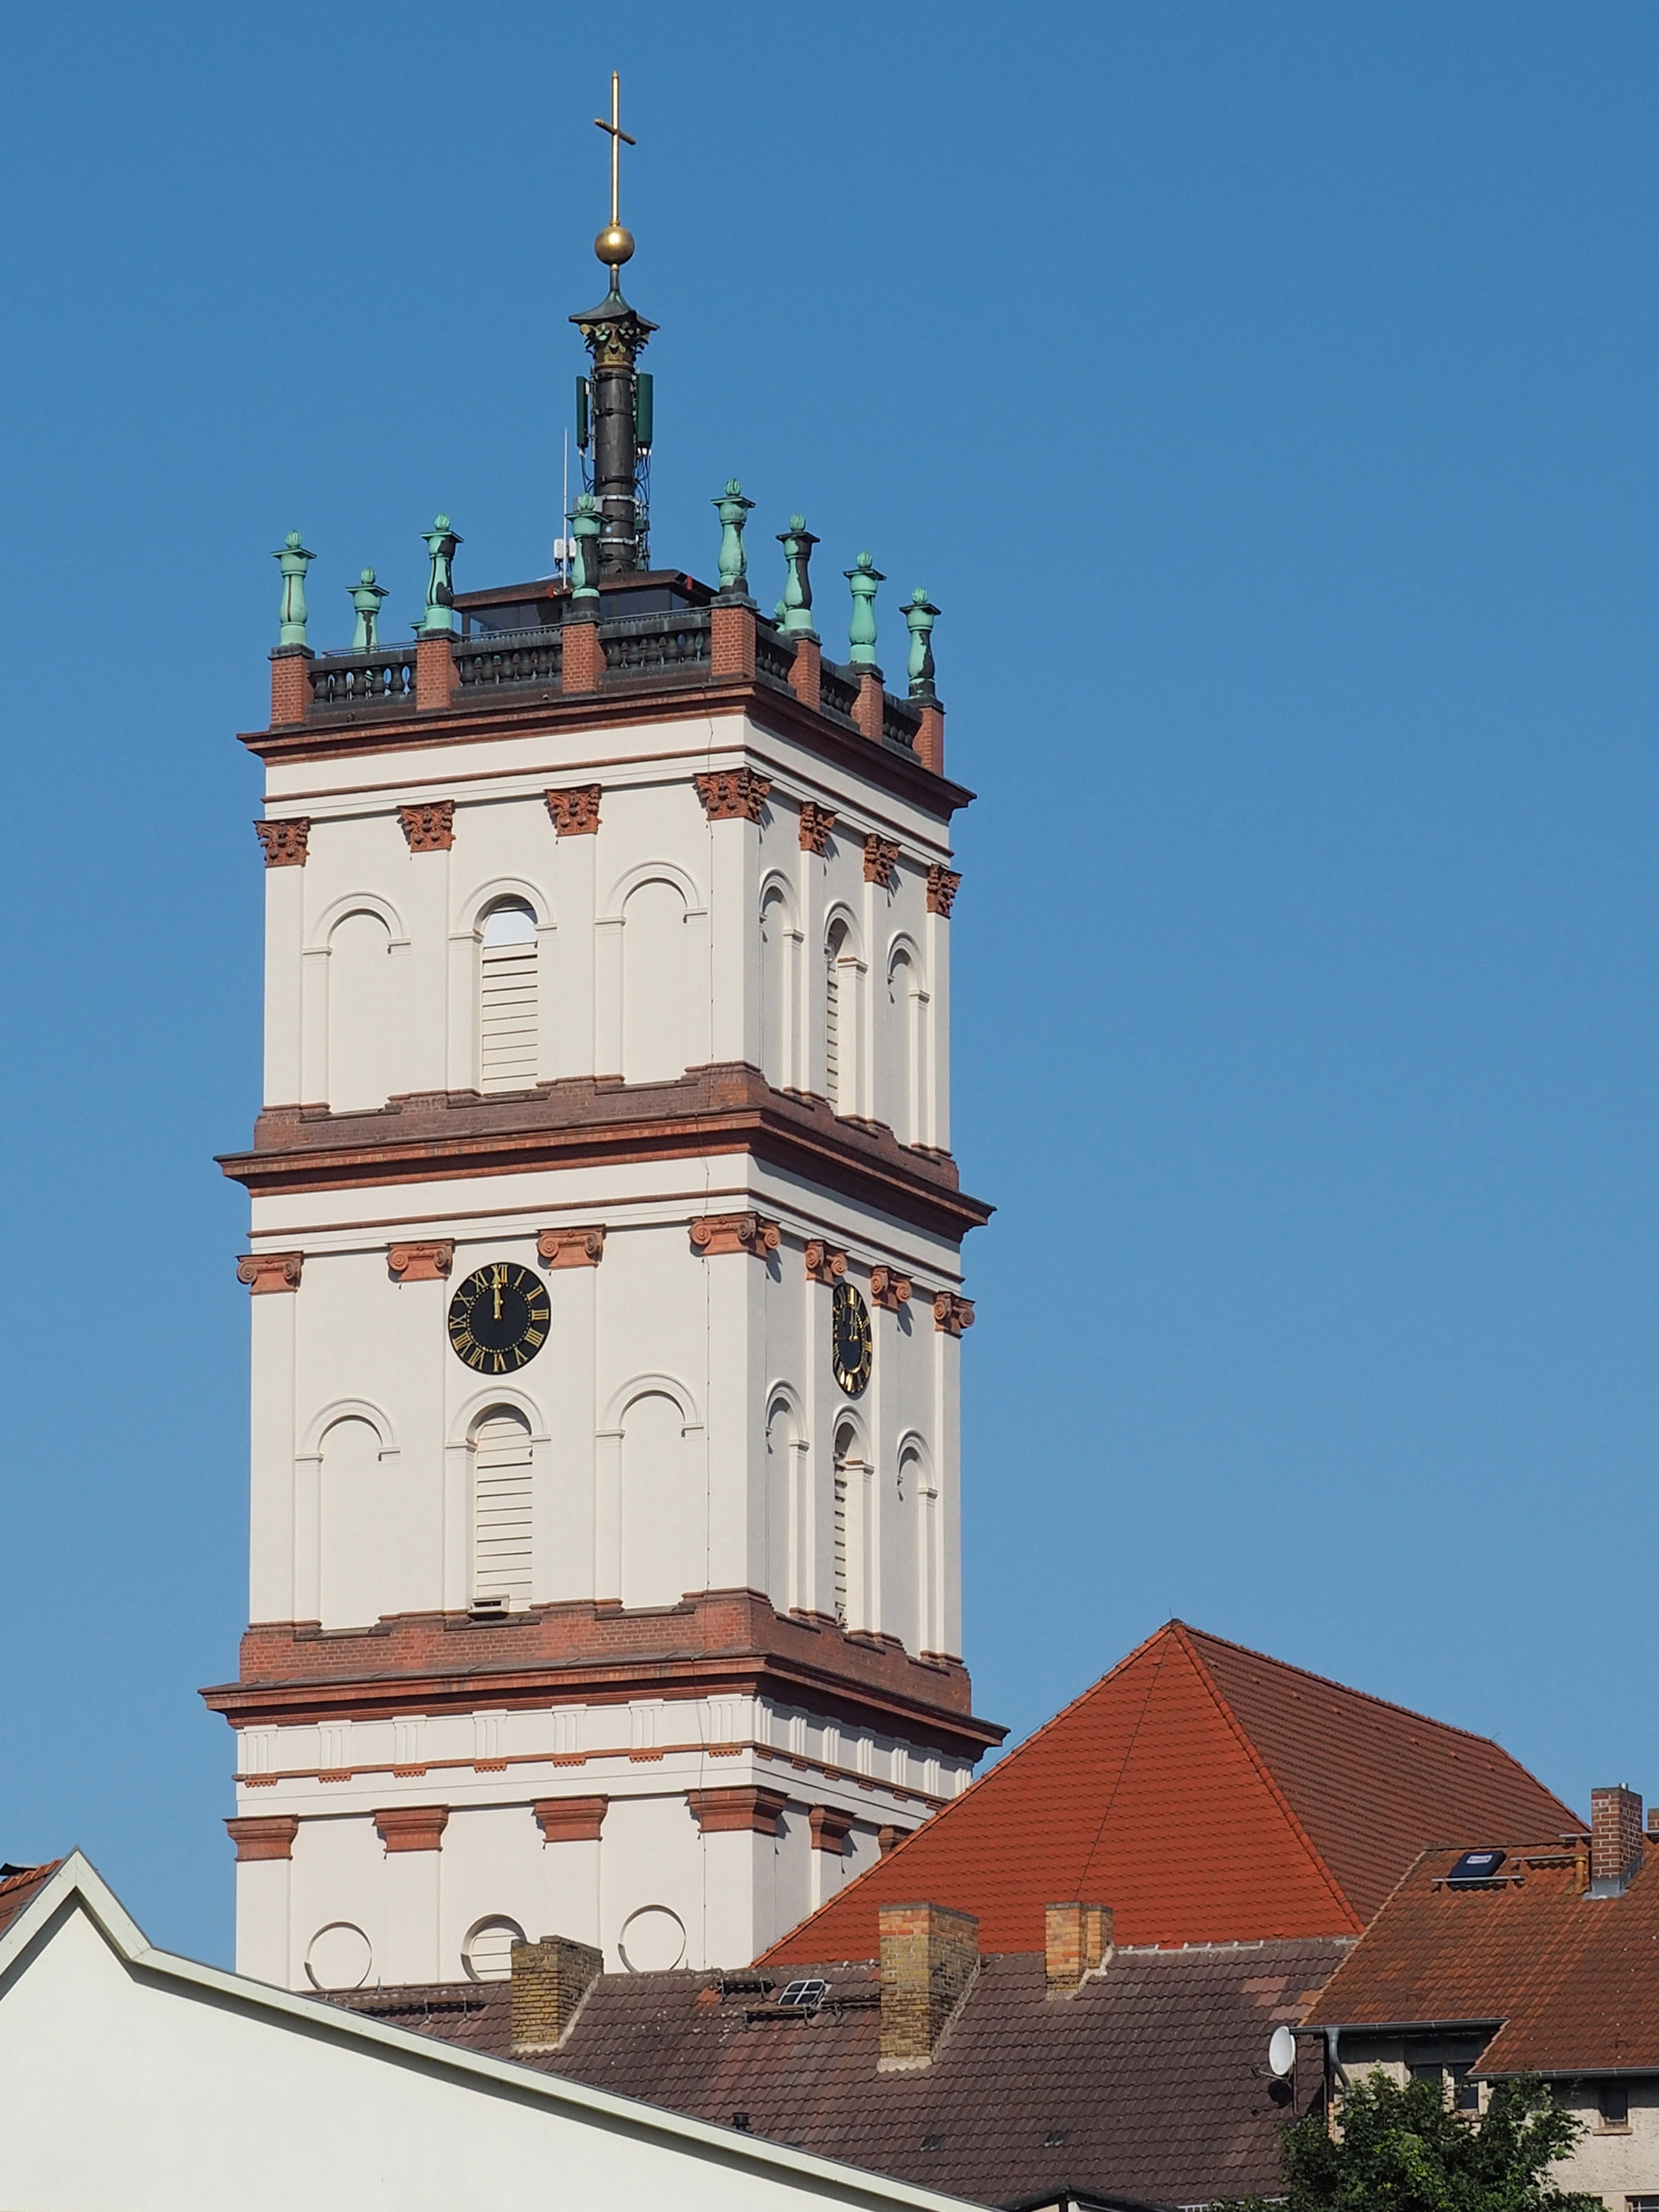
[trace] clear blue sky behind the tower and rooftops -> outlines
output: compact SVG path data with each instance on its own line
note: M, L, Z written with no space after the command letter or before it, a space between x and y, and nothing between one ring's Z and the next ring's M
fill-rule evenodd
M228 1955L270 549L546 568L613 62L659 555L945 608L980 1708L1659 1792L1659 13L597 13L7 11L0 1856Z

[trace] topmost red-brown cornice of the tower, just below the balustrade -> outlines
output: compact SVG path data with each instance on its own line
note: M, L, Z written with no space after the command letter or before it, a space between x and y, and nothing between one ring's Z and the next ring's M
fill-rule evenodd
M566 635L566 646L568 646ZM825 761L849 768L869 783L914 799L933 816L949 818L971 803L973 792L949 776L933 774L905 752L872 745L856 730L845 730L794 692L752 677L728 677L714 684L684 688L639 688L617 684L580 697L524 699L504 703L491 699L482 708L436 708L418 717L409 712L330 714L279 730L243 730L241 743L263 761L338 761L369 752L414 752L427 745L458 741L493 741L542 737L564 730L637 728L659 721L701 721L703 717L748 714L763 730L796 739Z

